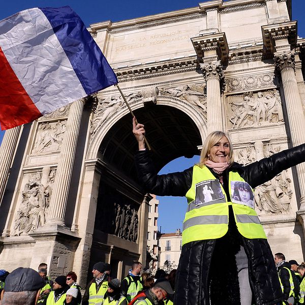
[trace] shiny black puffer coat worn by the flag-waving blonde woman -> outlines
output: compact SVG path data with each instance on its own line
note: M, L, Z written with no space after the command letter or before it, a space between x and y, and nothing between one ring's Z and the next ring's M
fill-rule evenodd
M248 166L233 163L224 172L227 197L229 171L236 171L252 188L283 170L305 161L305 144L287 149ZM145 190L160 196L185 196L192 185L193 168L157 175L150 153L138 151L136 166ZM189 242L182 247L176 273L175 305L240 304L235 254L240 245L248 257L249 280L257 305L273 305L283 299L275 262L266 239L248 239L236 228L229 210L228 233L219 239ZM221 266L221 268L219 267ZM211 292L211 293L210 293Z

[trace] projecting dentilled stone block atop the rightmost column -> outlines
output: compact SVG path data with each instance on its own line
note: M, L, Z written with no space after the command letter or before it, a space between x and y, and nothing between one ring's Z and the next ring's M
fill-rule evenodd
M262 25L262 36L268 53L274 53L283 47L277 43L279 40L287 40L287 45L294 48L297 42L297 21Z

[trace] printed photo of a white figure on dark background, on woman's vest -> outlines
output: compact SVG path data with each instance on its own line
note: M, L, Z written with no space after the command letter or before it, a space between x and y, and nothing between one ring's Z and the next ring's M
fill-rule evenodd
M208 205L224 198L220 183L217 179L205 180L196 184L196 205Z

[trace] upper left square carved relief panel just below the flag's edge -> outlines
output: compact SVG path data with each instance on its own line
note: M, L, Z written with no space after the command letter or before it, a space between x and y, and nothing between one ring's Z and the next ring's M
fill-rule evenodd
M67 120L58 120L50 123L42 122L38 125L32 155L54 153L60 150L66 131Z

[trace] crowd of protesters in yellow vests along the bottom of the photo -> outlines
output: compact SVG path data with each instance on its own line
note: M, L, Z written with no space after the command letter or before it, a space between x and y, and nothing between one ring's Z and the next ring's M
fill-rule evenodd
M304 304L305 262L286 261L283 253L276 253L275 263L283 291L281 305ZM92 270L93 279L83 293L74 271L53 280L47 273L45 263L39 265L38 271L19 267L9 273L0 269L0 305L173 304L175 269L170 273L158 269L153 277L150 269L142 269L142 264L135 261L120 283L118 279L111 279L110 264L97 262Z

